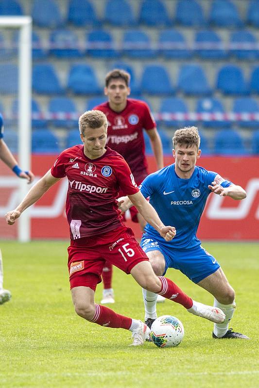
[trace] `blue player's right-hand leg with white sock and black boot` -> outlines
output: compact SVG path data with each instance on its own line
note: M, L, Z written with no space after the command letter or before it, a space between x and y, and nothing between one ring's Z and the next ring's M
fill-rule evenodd
M236 308L235 291L230 286L223 270L219 268L197 284L214 296L214 306L221 308L226 316L224 323L214 324L213 338L248 339L247 336L228 329L229 321Z

